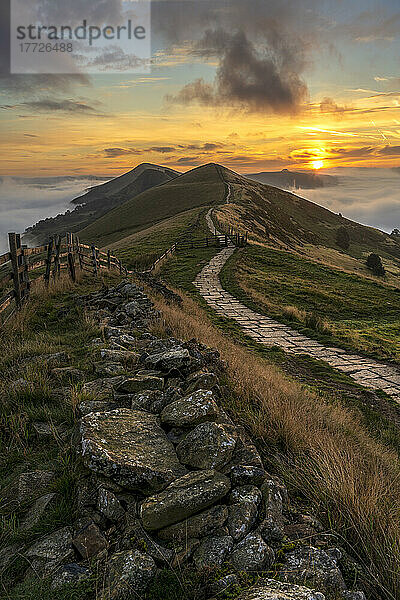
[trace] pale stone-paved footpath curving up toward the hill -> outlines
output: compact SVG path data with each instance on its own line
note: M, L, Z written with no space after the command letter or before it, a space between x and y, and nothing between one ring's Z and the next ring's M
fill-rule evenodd
M211 231L214 231L211 211L206 220ZM220 232L217 231L217 234ZM260 344L279 346L286 352L307 354L323 360L331 367L347 373L360 385L384 390L400 402L400 368L356 354L347 354L340 348L324 346L287 325L254 312L225 291L219 274L235 250L233 245L224 248L211 259L193 282L211 308L219 315L235 320L246 335Z

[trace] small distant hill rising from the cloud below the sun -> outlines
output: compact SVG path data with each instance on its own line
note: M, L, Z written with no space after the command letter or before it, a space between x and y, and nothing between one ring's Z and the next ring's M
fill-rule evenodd
M282 169L282 171L250 173L245 177L252 179L253 181L274 185L276 187L293 189L301 188L303 190L334 186L339 183L338 178L333 177L332 175L321 175L314 171L310 173L288 171L287 169Z

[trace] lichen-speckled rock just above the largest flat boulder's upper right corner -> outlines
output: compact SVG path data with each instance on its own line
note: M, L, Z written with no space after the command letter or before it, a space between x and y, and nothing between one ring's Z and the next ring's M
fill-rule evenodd
M194 427L205 421L214 421L218 414L213 393L197 390L166 406L161 413L161 422L171 427Z

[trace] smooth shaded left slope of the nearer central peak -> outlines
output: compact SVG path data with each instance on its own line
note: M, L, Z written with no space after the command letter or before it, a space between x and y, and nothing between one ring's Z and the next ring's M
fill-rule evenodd
M83 229L80 237L108 246L174 215L220 204L224 195L219 168L205 165L128 200Z

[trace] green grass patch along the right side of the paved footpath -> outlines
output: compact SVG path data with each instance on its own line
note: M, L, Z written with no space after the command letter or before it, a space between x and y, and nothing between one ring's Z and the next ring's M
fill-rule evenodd
M255 246L232 256L221 281L258 312L327 344L400 359L400 289ZM291 314L287 307L306 314Z

